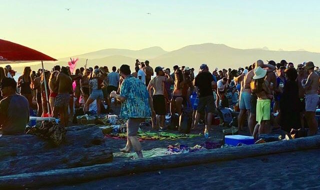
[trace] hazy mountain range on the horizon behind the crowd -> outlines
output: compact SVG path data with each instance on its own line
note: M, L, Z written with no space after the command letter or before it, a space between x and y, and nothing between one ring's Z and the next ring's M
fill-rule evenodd
M320 61L320 53L309 52L304 49L295 51L282 49L275 51L269 50L267 47L238 49L215 43L187 45L173 51L165 51L158 46L140 50L112 48L72 55L70 57L79 58L77 67L83 66L86 59L88 59L87 67L93 67L94 65L108 66L109 70L111 70L112 66L119 67L121 64L128 64L131 66L131 71L134 70L135 59L139 59L140 61L147 59L153 68L158 65L172 68L173 65L177 64L179 66L194 67L196 70L203 62L212 70L215 67L219 69L243 67L252 64L257 59L262 59L265 62L266 60L279 62L281 59L285 59L287 62L293 62L294 65L308 60L312 60L315 64ZM56 64L67 65L70 57L59 58L55 62L46 62L45 68L51 69ZM31 68L38 69L40 68L40 64L31 65ZM23 68L17 67L15 69L19 71Z

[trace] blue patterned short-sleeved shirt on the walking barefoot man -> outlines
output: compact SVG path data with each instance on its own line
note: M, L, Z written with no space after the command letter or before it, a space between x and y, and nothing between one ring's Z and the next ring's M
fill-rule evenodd
M126 98L121 105L120 117L129 119L151 116L149 94L141 80L127 76L121 83L120 96Z

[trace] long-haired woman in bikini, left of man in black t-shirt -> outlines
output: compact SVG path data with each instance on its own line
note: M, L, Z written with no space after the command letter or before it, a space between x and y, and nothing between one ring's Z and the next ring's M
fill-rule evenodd
M174 72L174 88L173 95L171 99L171 115L177 113L178 117L182 114L182 103L185 101L185 97L182 94L182 89L184 87L184 80L182 71L178 68Z

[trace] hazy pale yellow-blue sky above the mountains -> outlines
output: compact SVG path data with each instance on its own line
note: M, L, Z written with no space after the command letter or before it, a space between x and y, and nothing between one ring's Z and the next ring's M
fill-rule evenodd
M206 42L320 52L319 0L0 0L0 8L0 38L55 58Z

